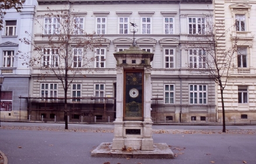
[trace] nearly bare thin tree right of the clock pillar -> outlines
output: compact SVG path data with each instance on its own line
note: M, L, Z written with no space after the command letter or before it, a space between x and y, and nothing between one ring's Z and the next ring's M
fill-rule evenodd
M204 24L201 27L202 30L199 31L201 34L195 35L193 41L191 41L192 43L189 42L187 45L191 48L189 54L198 57L198 65L193 65L195 58L190 56L188 67L190 69L197 68L195 72L208 74L218 85L222 103L222 131L226 133L225 98L223 91L230 77L230 72L233 70L237 52L237 37L232 37L229 40L229 44L227 44L226 35L229 35L235 26L225 28L225 22L218 22L218 25L213 24L212 16L208 16L202 20L202 24Z

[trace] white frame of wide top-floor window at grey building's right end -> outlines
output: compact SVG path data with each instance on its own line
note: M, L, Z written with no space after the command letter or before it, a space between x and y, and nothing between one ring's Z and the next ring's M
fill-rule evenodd
M191 22L190 22L191 19ZM193 19L195 19L195 23L193 22ZM204 23L198 23L198 19L204 19ZM206 18L205 17L188 17L188 34L191 35L205 35L206 34ZM191 28L190 28L191 25ZM195 25L195 27L193 27ZM201 25L201 28L199 28L199 25ZM202 27L204 26L204 28ZM199 31L201 29L201 31ZM195 31L194 31L195 30Z

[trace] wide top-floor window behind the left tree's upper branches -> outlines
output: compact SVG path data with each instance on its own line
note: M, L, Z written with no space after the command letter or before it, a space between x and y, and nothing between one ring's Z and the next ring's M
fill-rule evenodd
M44 34L60 34L61 18L45 17L44 18Z

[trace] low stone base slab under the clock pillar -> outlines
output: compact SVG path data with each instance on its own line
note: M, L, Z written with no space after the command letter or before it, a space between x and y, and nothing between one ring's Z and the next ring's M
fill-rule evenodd
M93 157L106 158L148 158L148 159L173 159L174 154L166 143L155 143L153 151L141 150L113 150L112 142L103 142L91 153Z

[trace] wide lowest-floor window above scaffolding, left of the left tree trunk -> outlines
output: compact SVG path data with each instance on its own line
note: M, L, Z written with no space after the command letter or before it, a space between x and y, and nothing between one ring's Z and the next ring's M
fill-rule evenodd
M41 97L42 98L57 98L58 87L55 83L41 83ZM43 101L51 101L51 99L42 99ZM56 101L56 99L52 99Z

